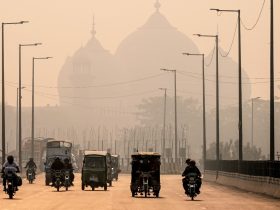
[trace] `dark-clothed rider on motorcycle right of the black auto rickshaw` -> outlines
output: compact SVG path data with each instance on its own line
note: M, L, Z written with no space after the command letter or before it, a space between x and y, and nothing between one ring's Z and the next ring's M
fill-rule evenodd
M187 175L189 173L196 173L197 174L197 181L196 181L196 184L197 184L197 194L200 193L200 187L201 187L201 173L199 171L199 169L196 167L196 163L194 160L191 160L191 159L187 159L186 160L186 163L188 164L187 167L185 168L182 176L184 176L183 178L183 187L185 189L185 192L187 193L188 189L187 189L187 186L188 186L188 183L189 183L189 180L188 180L188 177Z

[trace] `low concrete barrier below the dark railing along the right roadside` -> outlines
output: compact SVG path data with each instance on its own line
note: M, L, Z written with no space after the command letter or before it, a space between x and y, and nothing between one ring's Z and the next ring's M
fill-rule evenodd
M280 179L221 171L205 171L204 180L280 198Z

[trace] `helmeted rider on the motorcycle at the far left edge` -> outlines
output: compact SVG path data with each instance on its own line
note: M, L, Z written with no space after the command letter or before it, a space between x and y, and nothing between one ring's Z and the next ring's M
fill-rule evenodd
M7 173L11 171L14 174L14 183L16 184L16 190L18 190L17 186L19 186L19 177L16 175L16 173L19 173L19 167L18 165L14 162L14 157L12 155L9 155L7 157L7 161L4 163L2 167L2 178L3 178L3 186L4 186L4 191L6 191L6 175Z

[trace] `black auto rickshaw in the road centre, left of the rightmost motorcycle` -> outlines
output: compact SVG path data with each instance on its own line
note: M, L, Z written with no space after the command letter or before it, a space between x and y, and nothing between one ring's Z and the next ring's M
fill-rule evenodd
M131 195L151 195L159 197L160 154L155 152L136 152L131 155Z

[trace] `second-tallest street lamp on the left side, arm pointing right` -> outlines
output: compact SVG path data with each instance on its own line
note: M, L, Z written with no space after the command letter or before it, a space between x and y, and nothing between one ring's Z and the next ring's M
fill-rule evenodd
M19 139L19 145L18 145L18 150L19 150L19 168L21 169L22 165L22 159L21 159L21 48L22 47L31 47L31 46L38 46L41 45L42 43L32 43L32 44L20 44L19 45L19 82L18 82L18 90L19 90L19 109L18 109L18 120L19 120L19 127L18 127L18 139Z

